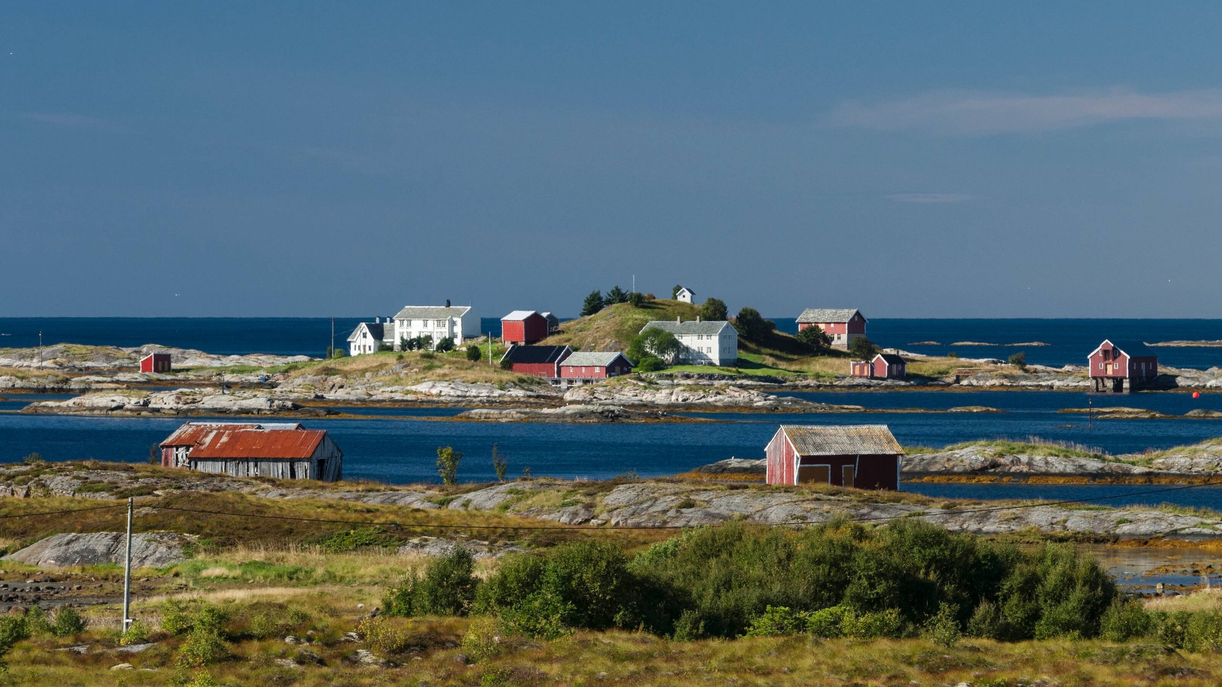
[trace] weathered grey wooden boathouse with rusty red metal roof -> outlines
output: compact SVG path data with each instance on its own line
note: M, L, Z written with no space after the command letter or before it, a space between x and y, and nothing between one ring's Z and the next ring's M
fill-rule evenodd
M299 423L188 422L160 449L165 467L213 474L323 482L343 476L343 451L326 430Z

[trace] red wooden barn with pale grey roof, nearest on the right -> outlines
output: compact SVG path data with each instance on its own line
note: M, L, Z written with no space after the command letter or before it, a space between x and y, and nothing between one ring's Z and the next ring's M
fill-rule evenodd
M769 484L899 489L904 450L885 424L782 424L765 452Z

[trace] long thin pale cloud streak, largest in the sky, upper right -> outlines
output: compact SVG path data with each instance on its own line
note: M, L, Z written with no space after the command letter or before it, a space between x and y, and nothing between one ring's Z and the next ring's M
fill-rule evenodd
M1222 119L1222 89L1143 94L1123 88L1063 95L943 92L906 100L847 101L826 123L954 136L1037 132L1130 120Z

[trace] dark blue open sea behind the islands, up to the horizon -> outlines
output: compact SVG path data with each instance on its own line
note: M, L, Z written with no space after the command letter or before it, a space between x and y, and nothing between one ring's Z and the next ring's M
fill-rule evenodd
M336 318L342 345L365 318ZM774 318L781 331L797 331L794 319ZM501 321L484 318L483 330L501 334ZM71 342L141 346L161 344L210 353L276 353L323 356L331 344L330 318L0 318L0 348ZM1103 339L1156 341L1222 340L1218 319L871 319L868 335L876 344L916 353L956 352L964 358L1007 358L1023 351L1029 363L1081 364ZM937 341L937 345L914 344ZM951 346L956 342L996 346ZM1008 346L1042 342L1047 346ZM1205 369L1222 366L1222 348L1158 348L1163 364Z

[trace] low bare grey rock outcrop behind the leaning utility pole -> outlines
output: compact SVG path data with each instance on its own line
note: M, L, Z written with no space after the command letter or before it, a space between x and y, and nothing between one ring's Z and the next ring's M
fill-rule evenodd
M187 560L182 546L191 542L186 534L147 532L132 535L132 567L164 567ZM92 534L54 534L4 560L38 567L68 567L77 565L122 565L127 538L122 532Z

